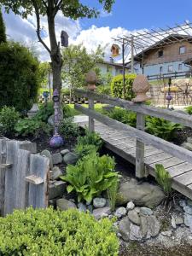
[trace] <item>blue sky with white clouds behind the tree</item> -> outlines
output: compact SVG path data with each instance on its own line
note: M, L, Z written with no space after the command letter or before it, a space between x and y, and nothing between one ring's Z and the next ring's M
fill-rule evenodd
M103 11L98 0L81 0L81 2L99 9L100 17L70 20L59 13L55 22L57 40L60 41L61 30L65 30L69 35L69 44L84 44L89 52L100 44L105 51L107 61L111 55L112 38L128 35L130 32L142 32L144 29L166 28L166 26L182 24L184 20L192 21L192 0L116 0L110 14ZM22 20L20 16L11 12L9 15L3 12L3 18L8 38L34 49L41 61L49 61L48 53L38 43L35 15ZM49 45L45 18L42 18L42 26L44 27L42 36Z

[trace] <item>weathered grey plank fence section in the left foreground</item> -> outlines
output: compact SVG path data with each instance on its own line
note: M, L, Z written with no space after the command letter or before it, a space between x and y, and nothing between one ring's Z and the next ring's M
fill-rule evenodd
M48 206L49 159L36 144L0 139L0 214Z

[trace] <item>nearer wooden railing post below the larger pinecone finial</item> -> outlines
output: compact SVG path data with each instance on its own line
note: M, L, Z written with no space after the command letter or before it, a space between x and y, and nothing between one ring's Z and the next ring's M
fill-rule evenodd
M143 113L137 113L137 129L144 131L145 128L145 116ZM136 141L136 177L144 177L144 143L139 140Z

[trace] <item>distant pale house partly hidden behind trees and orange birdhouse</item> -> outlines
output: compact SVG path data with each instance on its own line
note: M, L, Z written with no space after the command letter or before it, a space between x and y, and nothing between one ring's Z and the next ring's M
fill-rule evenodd
M97 62L96 66L101 69L102 74L111 73L113 76L123 74L123 65L114 63L113 58L110 61ZM128 67L125 67L125 73L129 73Z

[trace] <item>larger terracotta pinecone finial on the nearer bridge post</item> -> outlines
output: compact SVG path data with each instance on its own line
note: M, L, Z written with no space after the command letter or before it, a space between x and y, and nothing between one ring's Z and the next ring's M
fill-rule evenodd
M136 93L136 97L132 99L133 102L146 102L150 99L146 95L150 88L150 84L148 83L148 79L143 75L137 75L137 78L133 82L132 90Z

